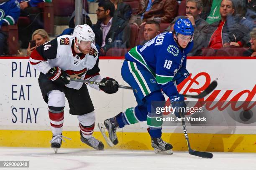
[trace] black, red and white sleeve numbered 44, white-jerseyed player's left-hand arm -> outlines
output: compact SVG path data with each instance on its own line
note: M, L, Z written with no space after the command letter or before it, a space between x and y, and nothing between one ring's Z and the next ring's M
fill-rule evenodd
M33 68L46 74L51 66L48 64L48 59L57 57L58 41L57 38L36 47L30 55L29 62Z

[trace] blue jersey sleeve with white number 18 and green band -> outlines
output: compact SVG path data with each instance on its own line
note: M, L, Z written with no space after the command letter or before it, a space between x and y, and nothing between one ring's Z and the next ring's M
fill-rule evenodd
M178 94L177 87L173 81L174 72L177 72L178 68L179 64L175 62L174 56L166 54L157 57L156 82L168 97Z

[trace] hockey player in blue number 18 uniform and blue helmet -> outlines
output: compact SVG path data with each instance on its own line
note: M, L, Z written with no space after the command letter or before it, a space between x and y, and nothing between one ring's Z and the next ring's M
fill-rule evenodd
M188 19L179 19L173 32L159 34L145 45L133 47L125 55L121 74L133 88L138 105L105 120L104 125L99 123L102 134L102 126L108 130L109 139L105 138L108 143L118 143L117 128L147 121L155 153L173 153L172 145L161 138L162 121L156 120L159 115L151 111L151 102L165 101L162 90L169 97L172 107L186 107L184 96L178 93L176 86L189 75L186 60L187 53L193 47L193 36L192 23ZM180 117L179 112L174 114ZM181 113L182 116L184 114Z

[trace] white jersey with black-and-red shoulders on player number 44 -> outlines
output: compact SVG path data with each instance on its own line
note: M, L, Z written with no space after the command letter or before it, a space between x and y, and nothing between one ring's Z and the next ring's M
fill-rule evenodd
M74 37L63 35L40 45L31 53L30 63L40 72L46 74L52 67L60 67L70 77L84 79L87 70L94 67L98 51L94 44L91 45L89 54L76 54L74 52ZM82 82L70 81L69 88L80 89Z

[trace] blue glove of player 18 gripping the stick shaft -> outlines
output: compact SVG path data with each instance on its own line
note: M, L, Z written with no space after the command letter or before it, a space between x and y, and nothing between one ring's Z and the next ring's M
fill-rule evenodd
M176 117L180 117L179 112L182 116L186 113L186 103L184 102L183 95L173 95L170 97L170 101L172 103L172 108Z

